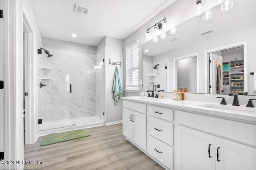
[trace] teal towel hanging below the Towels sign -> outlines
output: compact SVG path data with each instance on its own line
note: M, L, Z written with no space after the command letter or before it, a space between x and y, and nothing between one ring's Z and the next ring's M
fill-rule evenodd
M118 67L116 67L115 75L114 75L114 81L113 81L113 87L112 87L113 97L115 99L115 105L119 102L119 100L122 97L122 82L121 78L119 76Z

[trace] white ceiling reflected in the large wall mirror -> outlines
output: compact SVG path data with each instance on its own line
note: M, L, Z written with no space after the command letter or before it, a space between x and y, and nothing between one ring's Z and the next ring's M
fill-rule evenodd
M221 11L220 5L218 5L212 8L212 18L210 20L203 21L202 16L196 16L177 26L175 35L170 35L167 32L166 39L158 38L157 43L152 42L152 40L144 43L143 48L149 51L143 51L143 53L146 56L156 56L192 43L213 40L223 33L253 23L256 23L256 1L247 1L246 3L242 0L235 1L233 8L225 12ZM212 30L213 32L204 36L199 35L206 30ZM176 42L168 41L174 37L179 40Z

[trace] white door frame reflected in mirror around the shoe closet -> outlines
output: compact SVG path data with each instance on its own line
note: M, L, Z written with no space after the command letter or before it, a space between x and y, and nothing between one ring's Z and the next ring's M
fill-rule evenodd
M204 93L207 93L207 94L210 93L209 88L208 88L208 85L210 85L210 76L208 75L209 70L210 70L210 65L208 63L209 54L214 53L216 51L228 49L231 47L238 47L241 45L244 46L244 65L246 66L246 67L244 67L244 79L246 80L246 81L244 81L244 91L248 92L248 46L247 46L247 40L246 40L246 41L232 43L229 45L224 45L222 47L204 51L204 73L205 73L204 80L207 80L207 81L204 81Z

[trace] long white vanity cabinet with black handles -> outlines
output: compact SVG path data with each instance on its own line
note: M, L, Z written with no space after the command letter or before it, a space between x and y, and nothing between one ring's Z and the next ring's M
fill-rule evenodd
M152 101L123 100L123 134L164 168L256 170L255 121Z

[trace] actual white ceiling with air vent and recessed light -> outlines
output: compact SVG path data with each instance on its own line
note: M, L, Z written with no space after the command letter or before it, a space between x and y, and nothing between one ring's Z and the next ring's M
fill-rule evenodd
M96 46L104 36L123 40L174 1L30 0L30 3L43 37ZM90 8L89 14L74 12L76 4Z

